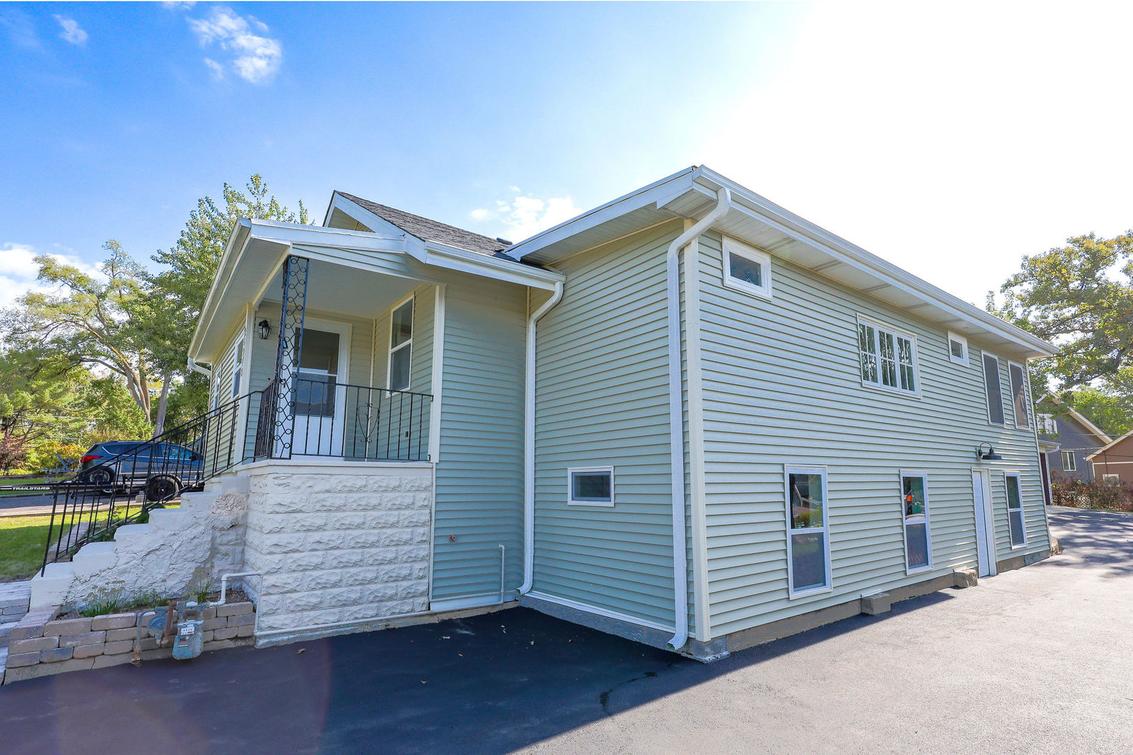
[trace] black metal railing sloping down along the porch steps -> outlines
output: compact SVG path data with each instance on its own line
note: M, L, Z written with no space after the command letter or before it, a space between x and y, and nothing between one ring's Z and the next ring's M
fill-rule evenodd
M199 490L210 478L250 458L244 418L261 393L232 398L150 440L109 444L128 447L88 458L78 472L51 483L43 568L69 559L88 542L113 539L121 525L145 522L155 506Z

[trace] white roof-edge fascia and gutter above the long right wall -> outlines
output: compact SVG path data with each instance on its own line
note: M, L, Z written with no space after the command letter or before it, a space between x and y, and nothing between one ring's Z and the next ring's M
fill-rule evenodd
M808 243L838 261L854 267L874 277L880 278L888 285L904 291L921 301L935 307L939 307L956 318L974 325L981 329L990 331L996 335L1019 344L1036 352L1034 357L1053 357L1055 348L1031 335L1022 328L1017 328L1010 323L1005 323L998 317L985 312L978 307L969 304L966 301L957 299L951 293L936 288L931 283L923 281L912 273L904 271L892 263L887 263L880 257L871 255L861 247L850 243L829 231L826 231L813 223L791 213L778 205L768 201L764 197L750 191L739 183L727 179L719 173L708 169L699 168L696 178L704 177L714 183L726 187L732 191L733 206L748 213L756 220L766 223L776 230L791 235L799 241ZM739 201L738 201L739 200Z

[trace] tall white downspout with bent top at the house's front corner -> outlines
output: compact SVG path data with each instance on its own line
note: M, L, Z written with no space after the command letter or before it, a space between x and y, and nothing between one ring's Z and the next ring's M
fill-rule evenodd
M688 554L684 531L684 418L681 397L681 249L707 231L732 204L732 192L722 188L716 192L716 206L696 225L668 244L665 269L668 277L668 464L673 498L673 608L676 634L670 647L680 650L689 641Z

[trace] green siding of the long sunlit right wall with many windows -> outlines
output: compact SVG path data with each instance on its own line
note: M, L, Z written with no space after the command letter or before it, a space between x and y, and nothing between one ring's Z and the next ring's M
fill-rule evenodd
M774 256L774 299L746 295L722 284L719 237L704 237L700 248L713 636L976 566L971 469L980 443L1006 460L996 467L1022 475L1029 539L1011 551L1003 474L991 473L998 558L1048 548L1033 430L988 422L977 340L969 364L953 363L944 328ZM859 314L915 336L920 397L862 385ZM1007 385L1010 354L997 355ZM833 591L795 600L784 464L828 473ZM932 569L911 576L901 470L928 474Z

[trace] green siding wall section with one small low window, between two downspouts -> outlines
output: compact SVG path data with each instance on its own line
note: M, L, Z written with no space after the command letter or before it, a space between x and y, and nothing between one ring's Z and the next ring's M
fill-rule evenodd
M680 223L569 258L537 345L534 591L672 627L665 251ZM566 470L614 467L614 506Z

